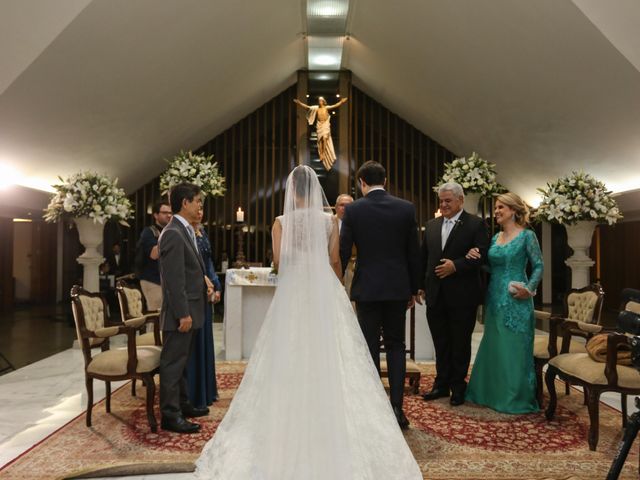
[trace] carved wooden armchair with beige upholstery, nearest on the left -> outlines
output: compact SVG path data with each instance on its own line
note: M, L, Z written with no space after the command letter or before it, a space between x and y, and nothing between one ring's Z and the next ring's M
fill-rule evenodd
M71 289L71 306L78 341L84 356L87 387L87 427L91 426L93 408L93 380L105 382L105 406L111 412L111 382L140 379L147 388L147 420L152 432L158 424L153 413L156 385L154 375L160 369L160 349L155 346L136 346L136 331L144 324L143 317L124 320L124 325L110 325L107 302L99 293L90 293L78 285ZM126 334L127 347L110 349L109 339ZM100 345L100 353L92 356L92 344Z

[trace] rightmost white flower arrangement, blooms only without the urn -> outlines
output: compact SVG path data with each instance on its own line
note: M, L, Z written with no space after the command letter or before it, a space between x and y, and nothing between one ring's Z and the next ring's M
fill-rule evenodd
M572 172L538 191L542 202L535 217L541 220L567 225L588 220L613 225L622 218L611 192L588 173Z

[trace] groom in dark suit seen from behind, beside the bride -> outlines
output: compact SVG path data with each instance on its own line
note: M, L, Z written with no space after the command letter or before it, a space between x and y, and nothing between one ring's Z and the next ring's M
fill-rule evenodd
M387 355L391 405L401 428L409 426L402 411L406 372L405 316L418 290L419 246L413 204L389 195L386 172L368 161L356 174L364 194L347 205L340 230L344 273L351 248L358 257L351 285L360 328L380 371L380 335Z

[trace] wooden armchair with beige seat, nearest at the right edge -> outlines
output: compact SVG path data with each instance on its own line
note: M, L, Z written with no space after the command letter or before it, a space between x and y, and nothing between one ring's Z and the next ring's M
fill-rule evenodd
M640 292L638 292L640 294ZM623 300L623 312L635 315L640 321L640 295L638 300ZM549 390L549 406L546 417L552 420L557 405L555 377L580 385L584 389L589 410L589 449L595 450L598 445L599 401L603 392L621 394L622 426L627 424L627 395L640 394L640 372L634 367L618 364L618 350L625 346L630 348L632 337L611 332L607 337L606 363L593 360L588 353L570 353L571 336L580 331L586 324L567 320L561 325L562 346L560 354L549 360L545 383Z

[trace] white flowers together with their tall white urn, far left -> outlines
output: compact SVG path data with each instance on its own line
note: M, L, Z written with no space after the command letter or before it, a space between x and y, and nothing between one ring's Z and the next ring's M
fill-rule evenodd
M129 226L131 202L118 187L118 179L95 172L80 172L54 185L56 193L45 209L44 219L57 222L63 217L73 218L78 227L80 243L85 251L78 257L84 267L83 287L90 292L100 289L98 267L104 257L98 252L102 231L107 220L118 220Z

